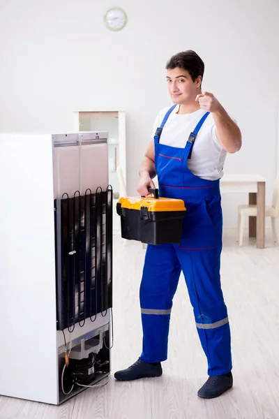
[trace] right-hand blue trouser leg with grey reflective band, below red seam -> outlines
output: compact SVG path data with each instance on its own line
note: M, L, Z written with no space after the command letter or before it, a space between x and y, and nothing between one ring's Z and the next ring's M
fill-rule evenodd
M227 307L220 288L220 249L179 249L177 254L186 277L208 373L226 374L232 369L232 355Z

